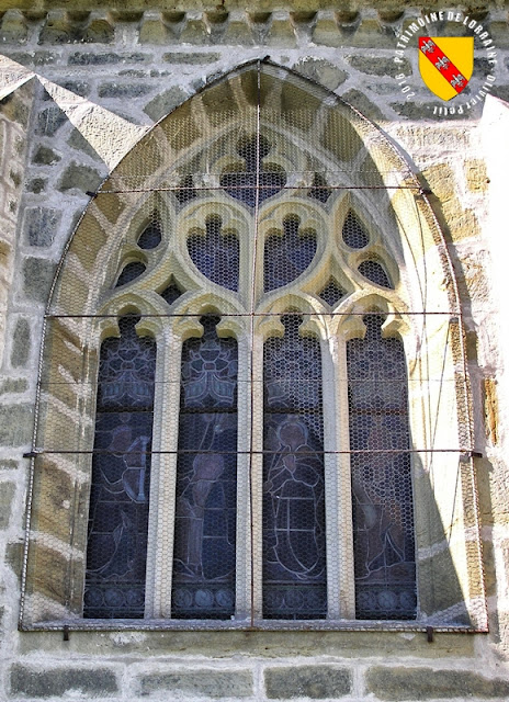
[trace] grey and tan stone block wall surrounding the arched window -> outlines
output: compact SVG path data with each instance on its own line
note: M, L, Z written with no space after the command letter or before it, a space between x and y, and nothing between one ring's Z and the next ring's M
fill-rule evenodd
M3 65L0 103L0 698L508 699L509 398L499 390L500 301L490 262L495 225L505 223L490 215L482 106L466 118L433 115L409 49L404 67L416 98L403 98L396 32L419 11L49 5L2 3L0 20L2 53L18 64ZM508 98L506 11L494 4L472 16L499 52L491 92ZM457 23L440 26L443 35L457 31ZM267 55L377 122L432 191L463 301L484 455L475 464L490 633L439 633L428 642L412 632L71 632L69 641L61 632L19 632L23 453L31 449L43 313L87 193L156 121L213 78ZM14 68L24 82L9 90Z

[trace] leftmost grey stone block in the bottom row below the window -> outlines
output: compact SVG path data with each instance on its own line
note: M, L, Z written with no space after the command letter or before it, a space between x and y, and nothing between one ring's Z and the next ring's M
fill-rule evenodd
M106 668L59 668L37 670L14 665L10 670L11 692L31 698L103 695L117 693L115 675Z

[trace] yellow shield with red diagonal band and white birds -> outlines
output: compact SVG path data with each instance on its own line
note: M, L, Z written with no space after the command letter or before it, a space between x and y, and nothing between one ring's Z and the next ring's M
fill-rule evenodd
M474 37L420 36L419 70L432 93L442 100L452 100L472 77Z

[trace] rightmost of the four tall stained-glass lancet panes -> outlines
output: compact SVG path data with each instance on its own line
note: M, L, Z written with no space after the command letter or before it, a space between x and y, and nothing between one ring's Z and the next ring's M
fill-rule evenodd
M364 317L365 338L347 342L357 616L405 620L417 615L407 373L383 322Z

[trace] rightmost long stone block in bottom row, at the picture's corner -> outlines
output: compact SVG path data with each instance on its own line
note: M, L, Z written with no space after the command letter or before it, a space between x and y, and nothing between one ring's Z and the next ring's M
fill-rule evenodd
M367 670L367 692L381 700L448 700L509 697L509 681L484 678L471 670L376 667Z

